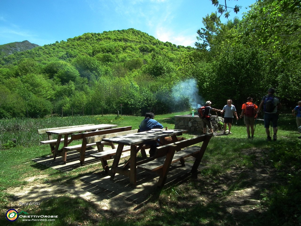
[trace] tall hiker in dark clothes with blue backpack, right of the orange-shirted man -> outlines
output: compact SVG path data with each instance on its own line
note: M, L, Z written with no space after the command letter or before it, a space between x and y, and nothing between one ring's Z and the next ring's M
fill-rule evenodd
M280 100L278 99L278 97L276 97L274 95L275 93L275 89L274 88L269 88L268 89L268 95L263 96L262 101L259 105L258 111L257 111L257 115L259 114L260 110L263 107L263 111L264 111L264 127L265 127L265 132L267 135L267 141L271 141L272 138L270 136L270 122L272 122L272 127L273 127L273 140L276 141L277 140L277 131L278 131L278 110L282 107ZM272 131L271 131L272 132Z

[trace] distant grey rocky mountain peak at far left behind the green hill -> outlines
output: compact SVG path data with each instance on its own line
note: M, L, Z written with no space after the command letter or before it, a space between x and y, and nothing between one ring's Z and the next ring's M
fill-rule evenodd
M8 44L0 45L0 55L8 56L15 52L23 52L29 49L33 49L39 45L33 44L27 40L23 42L11 42Z

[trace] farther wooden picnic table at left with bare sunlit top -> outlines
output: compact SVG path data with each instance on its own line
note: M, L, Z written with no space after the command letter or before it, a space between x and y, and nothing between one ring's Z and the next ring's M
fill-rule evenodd
M46 133L50 133L50 134L57 134L57 142L55 144L55 148L54 148L54 151L53 151L53 156L57 156L57 155L60 155L63 157L63 161L66 162L66 158L67 158L67 152L58 152L59 150L59 146L60 146L60 142L61 142L61 138L62 138L62 135L64 135L64 147L67 147L70 142L72 140L70 140L68 142L68 137L69 135L73 134L73 133L77 133L77 132L88 132L88 131L91 131L91 130L99 130L99 129L111 129L112 127L116 127L117 125L111 125L111 124L98 124L98 125L91 125L91 126L82 126L82 127L75 127L75 128L68 128L68 129L59 129L59 130L49 130L49 131L46 131ZM62 148L62 149L63 149ZM64 156L63 156L64 155Z

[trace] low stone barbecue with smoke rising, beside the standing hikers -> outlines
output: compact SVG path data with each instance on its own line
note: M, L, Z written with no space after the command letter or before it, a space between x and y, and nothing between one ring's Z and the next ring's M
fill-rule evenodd
M213 131L219 130L218 129L217 116L212 115L212 116L210 116L210 118L213 119L211 121ZM221 117L219 117L219 121L222 121ZM188 130L188 132L203 133L203 127L204 127L203 126L203 121L197 115L195 115L195 116L192 116L192 115L175 115L175 129Z

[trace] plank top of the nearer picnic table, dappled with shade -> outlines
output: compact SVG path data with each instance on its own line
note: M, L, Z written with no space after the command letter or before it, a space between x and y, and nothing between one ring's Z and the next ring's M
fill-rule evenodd
M186 133L186 132L188 132L188 130L174 130L173 133L164 133L163 131L149 133L145 131L141 133L134 133L134 134L124 135L124 136L104 138L102 140L107 142L132 146L151 140L157 140L164 137L179 136L182 135L182 133Z

